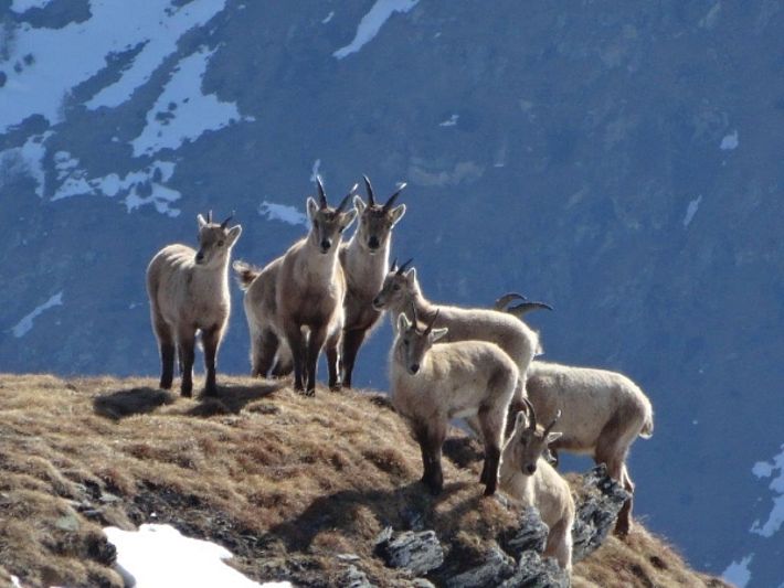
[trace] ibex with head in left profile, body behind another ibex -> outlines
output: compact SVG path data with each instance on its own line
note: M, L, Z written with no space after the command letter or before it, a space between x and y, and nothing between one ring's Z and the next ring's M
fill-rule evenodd
M416 269L406 270L409 259L401 267L392 264L392 268L384 278L383 287L373 299L373 307L378 310L388 309L394 317L406 312L410 308L416 310L423 321L431 321L438 313L436 327L449 329L445 342L455 341L488 341L501 348L515 362L520 373L520 381L515 388L510 404L510 418L508 430L511 432L511 416L525 408L525 377L528 365L536 354L541 353L539 335L523 322L516 320L506 312L486 309L466 309L452 306L441 306L430 302L422 293L416 280Z

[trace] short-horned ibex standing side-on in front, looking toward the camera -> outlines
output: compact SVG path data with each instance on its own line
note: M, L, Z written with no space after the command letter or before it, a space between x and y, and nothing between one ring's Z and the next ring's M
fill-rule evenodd
M485 495L490 495L498 483L502 432L519 373L494 343L434 344L448 332L433 328L437 320L438 311L420 330L415 312L413 322L404 313L398 316L390 353L392 404L420 443L422 481L434 494L444 487L441 451L449 419L474 419L485 443L479 481L485 484Z

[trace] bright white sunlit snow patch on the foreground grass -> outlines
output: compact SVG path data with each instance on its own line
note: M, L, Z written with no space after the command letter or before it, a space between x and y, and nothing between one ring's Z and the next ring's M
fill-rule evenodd
M208 541L180 534L170 525L146 524L139 531L106 527L104 533L117 548L117 564L135 579L137 588L170 586L225 588L290 588L290 582L258 584L223 560L232 553Z

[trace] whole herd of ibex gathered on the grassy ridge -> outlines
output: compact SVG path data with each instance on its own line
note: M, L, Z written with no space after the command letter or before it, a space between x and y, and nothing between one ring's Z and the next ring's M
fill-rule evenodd
M443 489L442 446L449 420L464 418L485 447L485 494L500 488L513 501L537 506L550 527L545 555L571 569L574 503L550 462L557 464L559 450L589 453L632 493L626 457L637 437L653 435L650 402L621 374L533 361L542 352L539 335L521 317L550 308L544 303L515 293L492 310L428 301L411 259L400 267L389 264L392 229L405 214L395 201L405 184L383 204L367 177L364 184L367 203L354 195L354 185L332 207L317 178L318 200L308 197L306 204L307 236L264 268L234 261L245 291L252 375L283 377L293 371L295 389L312 395L324 350L329 387L350 387L357 352L389 310L395 329L392 404L420 443L424 484L433 493ZM357 231L342 243L357 217ZM215 361L231 308L229 259L242 232L229 227L230 220L219 224L211 213L206 220L199 215L199 250L169 245L147 268L160 387L172 385L177 351L183 396L192 393L198 331L204 394L218 393ZM521 303L509 307L513 300ZM629 532L631 515L632 499L621 511L617 534Z

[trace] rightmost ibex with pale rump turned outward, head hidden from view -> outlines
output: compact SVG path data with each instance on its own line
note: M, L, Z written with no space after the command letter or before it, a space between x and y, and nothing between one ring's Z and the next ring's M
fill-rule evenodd
M628 377L605 370L570 367L532 362L526 384L537 416L547 421L561 410L562 437L551 443L557 451L565 449L593 456L605 463L612 478L631 493L634 483L626 469L626 456L637 437L654 432L650 400ZM618 514L615 531L625 535L632 527L632 499Z

